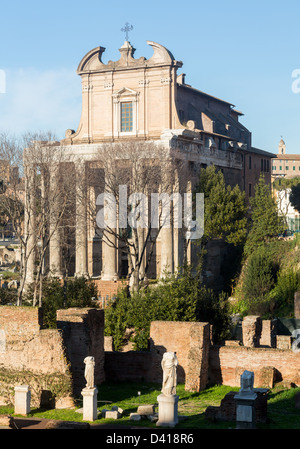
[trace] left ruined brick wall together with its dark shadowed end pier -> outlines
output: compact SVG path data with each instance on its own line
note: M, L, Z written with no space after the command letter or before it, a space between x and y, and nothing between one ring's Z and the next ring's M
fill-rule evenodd
M9 392L22 383L39 406L56 383L64 389L57 402L71 404L85 383L83 360L94 353L96 381L104 380L104 312L68 309L58 317L58 329L43 329L41 309L0 306L0 403L11 401Z

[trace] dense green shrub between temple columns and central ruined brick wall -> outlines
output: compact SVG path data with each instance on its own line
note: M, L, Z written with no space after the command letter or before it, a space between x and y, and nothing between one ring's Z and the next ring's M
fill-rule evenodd
M105 335L114 337L116 350L125 343L125 330L134 328L134 349L147 350L151 321L202 321L213 325L220 340L229 328L227 297L216 295L193 277L190 268L167 276L157 286L128 296L122 290L105 311Z

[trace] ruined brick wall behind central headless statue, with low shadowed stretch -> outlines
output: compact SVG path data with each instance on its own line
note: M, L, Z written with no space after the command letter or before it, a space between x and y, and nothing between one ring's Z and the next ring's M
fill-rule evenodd
M188 391L200 391L208 380L210 326L208 323L153 321L149 352L105 353L105 374L114 381L161 383L161 361L166 351L176 352L177 380Z

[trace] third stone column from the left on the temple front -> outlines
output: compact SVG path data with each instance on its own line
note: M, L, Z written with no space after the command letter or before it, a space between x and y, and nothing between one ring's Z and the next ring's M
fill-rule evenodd
M87 191L85 163L75 163L76 170L76 254L75 276L87 276Z

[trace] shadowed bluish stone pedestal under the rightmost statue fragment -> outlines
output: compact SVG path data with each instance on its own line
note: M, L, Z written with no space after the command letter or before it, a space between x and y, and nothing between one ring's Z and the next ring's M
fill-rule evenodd
M234 396L236 400L236 428L237 429L255 429L255 399L256 393Z

